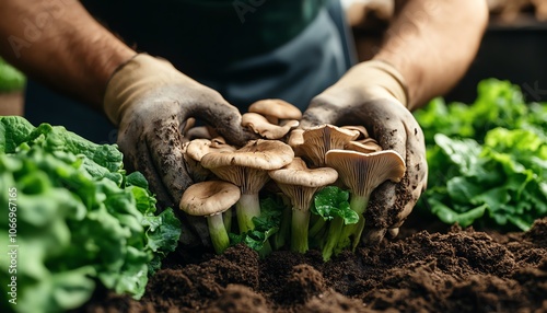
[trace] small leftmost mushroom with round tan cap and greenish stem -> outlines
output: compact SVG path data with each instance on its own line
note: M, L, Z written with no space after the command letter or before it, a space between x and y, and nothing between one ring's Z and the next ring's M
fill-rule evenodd
M181 210L190 216L207 218L209 235L217 254L230 246L222 212L230 209L241 196L240 188L222 181L207 181L189 186L181 199Z

